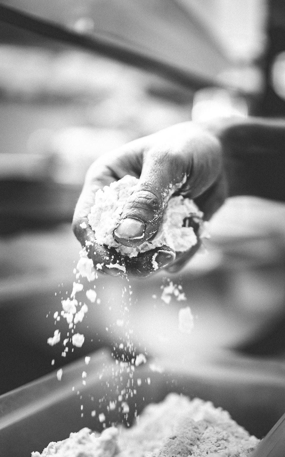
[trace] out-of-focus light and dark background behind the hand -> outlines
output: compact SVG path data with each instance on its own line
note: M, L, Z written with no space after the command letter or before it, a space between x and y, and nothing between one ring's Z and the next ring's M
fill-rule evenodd
M113 348L121 279L100 276L100 303L78 331L82 348L47 345L72 291L80 245L70 223L96 157L176 122L285 116L282 0L10 0L9 6L78 36L132 51L115 59L43 37L0 10L0 393L102 346ZM26 17L26 16L25 16ZM135 53L177 69L171 79ZM160 74L158 74L160 73ZM179 74L187 75L181 84ZM190 357L227 348L285 356L285 205L230 198L211 238L177 276L187 300L161 301L162 273L132 280L130 325L149 356ZM86 287L89 287L88 285ZM78 294L79 295L79 294ZM84 298L82 298L83 300ZM86 299L85 299L86 300ZM178 330L190 306L191 335ZM176 325L177 323L177 325ZM55 325L56 324L56 325ZM55 360L51 365L52 359Z

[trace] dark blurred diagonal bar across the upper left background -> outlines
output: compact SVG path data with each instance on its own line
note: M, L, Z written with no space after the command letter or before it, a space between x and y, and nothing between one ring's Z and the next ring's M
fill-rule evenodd
M129 43L117 43L114 37L100 37L95 33L92 35L78 33L67 27L57 25L51 21L32 16L3 4L0 5L0 21L34 32L42 37L57 40L61 43L79 46L89 51L102 54L124 64L130 64L137 68L158 74L163 78L172 80L194 90L209 86L223 86L214 79L206 78L181 68L176 68L163 60L154 58L144 52L136 51Z

